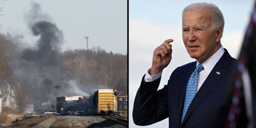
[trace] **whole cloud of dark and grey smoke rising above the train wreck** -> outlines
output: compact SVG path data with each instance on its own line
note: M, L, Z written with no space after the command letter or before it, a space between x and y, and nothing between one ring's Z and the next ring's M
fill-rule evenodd
M35 112L43 112L41 105L56 97L92 94L88 91L93 89L81 90L84 88L77 84L78 77L60 70L63 63L61 45L65 41L61 29L52 22L53 18L34 2L31 2L25 18L31 33L39 38L34 46L22 45L17 49L9 63L11 67L18 67L13 70L12 79L28 85L30 103L34 104Z

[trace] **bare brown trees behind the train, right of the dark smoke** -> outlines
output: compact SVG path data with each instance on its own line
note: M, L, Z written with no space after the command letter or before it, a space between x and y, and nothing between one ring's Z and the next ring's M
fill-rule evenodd
M104 85L127 95L127 55L107 53L100 47L62 53L62 71L74 72L82 85Z

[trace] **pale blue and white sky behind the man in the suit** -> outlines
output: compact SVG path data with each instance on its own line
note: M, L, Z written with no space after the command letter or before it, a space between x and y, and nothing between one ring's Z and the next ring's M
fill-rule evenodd
M161 89L172 71L196 61L189 57L182 40L182 10L198 0L129 0L129 127L167 128L168 118L150 126L136 126L132 120L133 102L142 76L151 67L153 51L166 39L173 39L172 60L163 71ZM253 0L205 0L222 11L225 27L221 43L229 54L237 58L245 29L252 12Z

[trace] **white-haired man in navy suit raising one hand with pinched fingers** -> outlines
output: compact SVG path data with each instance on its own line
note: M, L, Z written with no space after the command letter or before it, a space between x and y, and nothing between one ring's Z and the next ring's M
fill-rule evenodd
M158 46L152 67L143 76L133 106L136 125L150 125L169 117L169 127L225 127L229 102L225 91L237 60L221 45L222 12L215 4L194 3L183 10L182 37L197 61L176 68L157 91L161 72L172 58L172 39Z

